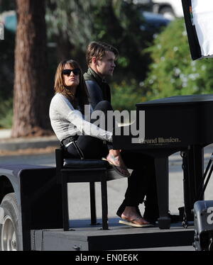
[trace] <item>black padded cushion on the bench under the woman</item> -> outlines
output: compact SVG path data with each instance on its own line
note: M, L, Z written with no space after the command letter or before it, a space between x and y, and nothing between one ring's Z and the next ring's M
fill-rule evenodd
M105 167L106 169L110 168L109 162L101 159L64 159L64 168L97 168Z

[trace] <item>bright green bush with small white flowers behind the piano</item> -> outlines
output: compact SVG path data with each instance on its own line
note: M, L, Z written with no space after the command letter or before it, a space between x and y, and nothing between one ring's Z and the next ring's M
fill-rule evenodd
M183 19L176 19L147 49L153 62L143 85L148 99L213 92L213 60L192 61Z

